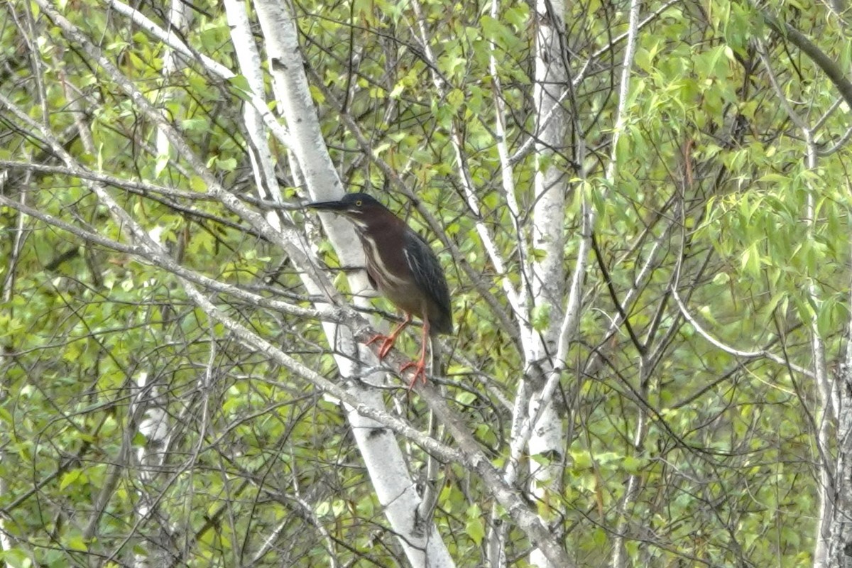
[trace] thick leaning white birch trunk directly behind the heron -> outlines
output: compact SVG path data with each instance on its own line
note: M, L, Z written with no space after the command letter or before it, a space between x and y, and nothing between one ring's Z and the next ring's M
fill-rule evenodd
M303 71L295 22L281 3L258 0L255 6L266 39L275 93L291 129L291 151L308 192L317 199L340 198L343 187L320 134L319 120ZM352 227L346 221L331 216L324 218L324 224L343 264L363 266L363 250ZM369 288L364 274L350 278L350 286L356 294ZM332 342L347 336L346 330L334 329L337 326L333 324L325 324L324 327ZM343 351L342 346L332 347L337 353ZM351 345L349 348L351 350ZM366 349L361 349L360 355L372 357ZM357 376L360 371L349 359L338 358L338 364L342 375L347 378ZM358 382L351 382L348 390L364 404L383 408L380 393L376 390ZM417 495L416 485L394 435L354 409L347 408L347 416L379 502L393 531L400 536L400 547L408 561L417 567L454 565L434 524L430 519L420 519L417 515L422 500Z

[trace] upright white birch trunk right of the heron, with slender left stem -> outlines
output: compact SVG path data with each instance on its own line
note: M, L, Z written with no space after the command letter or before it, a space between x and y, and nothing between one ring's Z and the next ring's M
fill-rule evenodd
M492 17L498 16L497 0L492 3ZM528 235L533 254L522 247L522 282L515 301L511 302L521 330L527 374L521 377L515 393L509 459L504 479L514 485L521 477L521 457L525 450L533 460L533 485L529 491L541 500L550 500L551 492L560 491L562 453L565 434L562 417L552 404L552 393L558 382L558 351L561 331L560 306L565 288L565 201L568 191L567 167L562 157L567 150L569 118L562 106L568 88L567 61L561 45L564 32L564 4L539 0L536 3L535 83L533 102L537 117L535 149L538 169L534 180L535 198L533 226ZM500 89L497 63L492 54L492 81ZM499 93L496 99L500 100ZM498 102L498 151L500 152L503 186L507 203L515 206L515 186L511 177L509 153L504 146L504 117ZM521 244L525 236L518 229ZM510 296L510 300L512 297ZM545 315L546 314L546 315ZM542 318L546 323L542 325ZM534 329L534 322L538 330ZM556 372L555 372L556 371ZM534 377L534 378L533 378ZM545 384L545 377L549 384ZM531 380L533 379L533 380ZM492 511L493 525L489 527L486 556L491 566L505 564L506 531L498 524L498 514ZM542 519L546 524L552 519ZM552 565L544 551L533 548L531 565L549 568Z

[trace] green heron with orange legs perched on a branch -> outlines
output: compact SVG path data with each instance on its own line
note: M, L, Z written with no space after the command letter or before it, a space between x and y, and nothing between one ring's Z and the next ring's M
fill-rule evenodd
M379 360L394 347L397 336L411 323L412 315L423 320L420 360L404 365L400 372L414 367L409 388L417 382L417 377L425 384L427 338L431 340L438 334L452 333L450 290L435 253L405 221L366 193L349 193L340 201L313 203L308 207L345 215L354 223L364 247L370 284L406 315L390 335L375 336L367 341L369 345L382 340ZM432 351L435 359L435 344Z

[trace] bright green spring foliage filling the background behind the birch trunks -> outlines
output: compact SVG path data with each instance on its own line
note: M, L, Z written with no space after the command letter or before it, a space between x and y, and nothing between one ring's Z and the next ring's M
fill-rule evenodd
M65 17L180 129L218 181L261 209L241 77L227 82L193 60L164 76L164 43L101 4L71 4L60 3ZM822 4L798 4L772 9L848 68L843 21ZM141 9L167 27L162 8ZM218 3L192 9L182 40L236 69ZM511 401L528 370L512 330L483 295L513 317L504 281L527 285L519 243L531 242L536 169L550 164L524 150L541 119L531 95L536 16L525 3L490 9L308 1L296 3L296 18L344 185L380 193L429 234L435 227L400 186L411 189L452 244L439 251L458 322L448 340L446 397L503 467ZM574 121L573 155L552 160L572 186L566 265L579 255L586 198L596 209L600 263L585 275L579 335L561 381L559 410L570 433L564 451L525 458L527 473L552 462L563 472L535 504L538 513L565 533L577 565L602 565L620 521L630 565L809 565L820 498L815 472L830 457L820 456L816 441L827 410L813 374L824 362L812 341L817 336L835 359L850 316L849 108L824 73L746 4L645 3L625 125L611 148L625 5L568 9L562 39L578 83L563 105ZM211 196L193 164L173 148L161 151L138 102L43 10L13 1L3 14L3 559L66 566L88 556L125 565L164 551L175 563L199 566L401 562L339 406L196 307L181 278L136 252L129 228L51 145L109 176L118 206L194 273L311 306L291 262ZM501 178L498 102L520 218ZM787 105L814 128L824 151L815 167ZM300 178L285 149L270 145L285 197L296 203L305 195ZM611 160L614 179L606 175ZM301 212L285 219L319 240ZM502 272L481 227L506 260ZM334 266L327 245L315 250ZM315 319L204 293L309 368L336 373ZM626 324L613 329L616 300ZM561 309L534 307L533 328L543 330ZM741 352L767 350L785 364L737 356L708 335ZM398 347L417 352L413 336ZM425 428L416 397L386 399ZM163 422L141 427L155 416ZM143 431L162 435L158 445ZM423 450L408 448L408 458L416 475ZM483 564L492 499L468 468L442 464L435 524L458 565ZM514 565L526 565L529 546L512 526Z

